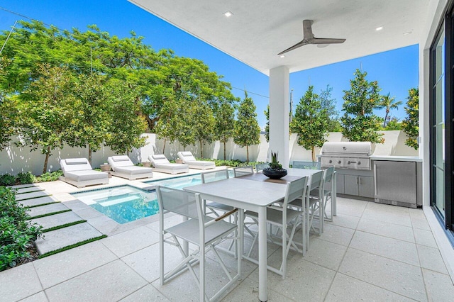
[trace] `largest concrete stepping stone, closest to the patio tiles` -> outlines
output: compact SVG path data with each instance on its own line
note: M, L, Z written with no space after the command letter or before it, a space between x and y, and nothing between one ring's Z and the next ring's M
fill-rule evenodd
M79 223L67 228L52 230L43 234L44 238L35 241L36 249L40 255L59 250L69 245L102 236L99 230L93 228L89 223Z

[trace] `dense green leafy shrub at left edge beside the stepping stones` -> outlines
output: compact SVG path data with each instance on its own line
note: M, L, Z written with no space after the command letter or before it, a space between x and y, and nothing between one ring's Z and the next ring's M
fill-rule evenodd
M0 271L31 259L42 227L28 218L27 209L16 201L16 191L0 186Z

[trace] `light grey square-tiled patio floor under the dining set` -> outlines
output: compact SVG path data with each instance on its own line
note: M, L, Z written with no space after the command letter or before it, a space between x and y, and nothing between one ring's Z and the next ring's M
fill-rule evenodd
M59 194L73 211L84 211L65 196L65 190L77 189L57 184L61 191L52 192L50 184L46 191ZM0 272L0 301L198 301L189 273L160 286L157 221L120 226L101 216L93 219L95 228L113 230L109 237ZM311 234L305 257L291 252L287 279L268 272L269 301L451 301L454 296L448 260L421 209L338 198L338 216L325 226L323 235ZM166 249L167 259L177 261L176 248ZM280 262L279 246L269 245L268 253L270 263ZM236 269L229 257L226 265ZM209 290L213 282L225 281L218 269L211 271ZM243 280L223 301L257 301L257 266L243 262L243 271Z

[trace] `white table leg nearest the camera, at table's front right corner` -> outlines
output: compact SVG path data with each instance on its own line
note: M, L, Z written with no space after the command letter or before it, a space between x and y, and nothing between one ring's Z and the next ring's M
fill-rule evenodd
M268 300L267 291L267 208L258 211L258 298Z

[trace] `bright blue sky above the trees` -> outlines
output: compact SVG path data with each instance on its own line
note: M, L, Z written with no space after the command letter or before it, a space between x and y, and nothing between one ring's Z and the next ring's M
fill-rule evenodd
M128 37L133 30L137 35L145 37L144 43L151 45L155 50L170 48L180 57L202 60L211 71L222 75L223 80L232 84L234 87L232 91L236 96L243 98L243 89L246 89L257 106L260 126L263 127L266 123L263 111L268 104L269 85L265 74L126 0L15 0L1 1L0 7L52 24L60 29L87 30L88 25L96 24L101 30L117 35L119 38ZM10 30L16 20L28 21L26 18L0 9L0 30ZM294 106L304 95L309 82L314 85L316 92L326 89L326 85L329 84L333 88L332 96L337 101L341 115L343 90L350 88L350 79L353 79L355 69L361 66L362 70L367 72L369 81L378 81L382 88L381 94L389 92L391 96L395 96L397 100L404 103L408 90L417 87L419 83L418 46L413 45L290 74L290 89L294 89ZM383 111L377 111L377 114L384 116ZM398 111L392 111L392 116L402 121L405 117L404 105L399 106Z

